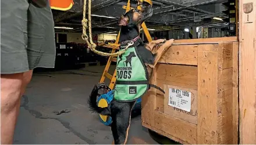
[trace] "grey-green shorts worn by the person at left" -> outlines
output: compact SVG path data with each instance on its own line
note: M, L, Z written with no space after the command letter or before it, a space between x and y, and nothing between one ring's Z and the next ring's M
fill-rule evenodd
M28 0L1 1L1 74L54 68L55 51L49 3L37 8Z

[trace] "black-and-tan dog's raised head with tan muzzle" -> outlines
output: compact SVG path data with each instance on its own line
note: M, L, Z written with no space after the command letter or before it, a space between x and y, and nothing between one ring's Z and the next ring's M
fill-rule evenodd
M137 28L140 31L141 24L152 16L152 12L153 9L150 5L140 10L137 8L131 9L120 17L118 25L127 28Z

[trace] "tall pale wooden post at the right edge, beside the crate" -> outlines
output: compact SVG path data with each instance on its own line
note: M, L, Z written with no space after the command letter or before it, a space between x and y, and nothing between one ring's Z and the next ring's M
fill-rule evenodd
M239 0L240 144L256 144L256 1Z

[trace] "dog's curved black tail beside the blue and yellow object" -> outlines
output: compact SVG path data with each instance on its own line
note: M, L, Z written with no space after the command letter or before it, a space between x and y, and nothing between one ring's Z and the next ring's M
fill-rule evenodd
M98 96L98 87L97 85L95 85L87 101L90 107L90 111L99 113L101 115L111 115L111 111L109 107L102 108L97 106L97 96Z

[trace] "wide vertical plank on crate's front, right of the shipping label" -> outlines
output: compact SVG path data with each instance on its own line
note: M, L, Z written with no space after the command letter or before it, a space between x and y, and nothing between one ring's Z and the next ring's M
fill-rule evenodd
M216 45L198 48L198 130L197 144L217 141L218 52Z

